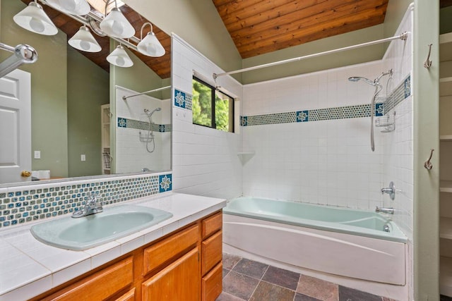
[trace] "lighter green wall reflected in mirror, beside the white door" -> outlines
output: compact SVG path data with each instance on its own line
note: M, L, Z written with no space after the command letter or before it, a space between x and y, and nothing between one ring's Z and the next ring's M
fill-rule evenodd
M21 66L31 73L32 151L41 159L32 160L32 169L49 169L51 176L68 176L66 35L37 35L16 25L12 18L25 8L19 0L1 1L1 42L16 46L30 44L38 54L36 63ZM1 59L10 54L0 51Z

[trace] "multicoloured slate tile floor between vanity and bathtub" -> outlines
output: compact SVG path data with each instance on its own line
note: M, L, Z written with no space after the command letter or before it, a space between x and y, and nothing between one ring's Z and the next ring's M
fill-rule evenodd
M223 253L217 301L394 301L261 262Z

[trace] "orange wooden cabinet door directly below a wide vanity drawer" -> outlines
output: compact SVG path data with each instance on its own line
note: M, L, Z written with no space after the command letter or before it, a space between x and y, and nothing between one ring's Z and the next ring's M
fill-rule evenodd
M198 301L201 283L198 257L196 247L145 281L143 301Z

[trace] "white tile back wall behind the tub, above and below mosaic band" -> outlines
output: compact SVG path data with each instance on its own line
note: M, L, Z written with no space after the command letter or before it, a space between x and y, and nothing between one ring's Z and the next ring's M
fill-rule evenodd
M244 86L245 116L370 103L381 61ZM369 118L243 128L244 195L359 209L381 206L383 134L370 149Z

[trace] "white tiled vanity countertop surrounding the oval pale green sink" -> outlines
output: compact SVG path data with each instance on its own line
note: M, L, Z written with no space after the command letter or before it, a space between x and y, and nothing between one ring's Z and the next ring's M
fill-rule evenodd
M207 216L208 214L212 214L213 212L222 209L226 206L226 200L168 192L162 195L143 197L129 202L121 202L121 204L136 204L145 207L154 207L157 209L169 211L173 214L173 216L166 221L157 223L157 225L125 236L124 238L119 238L117 240L113 240L112 242L107 242L105 243L105 245L100 245L98 247L93 247L84 251L70 251L78 252L81 254L84 253L87 255L87 257L84 256L81 259L76 260L76 262L68 262L66 264L62 264L61 269L52 269L48 266L45 266L45 264L42 264L42 262L40 262L40 259L33 258L33 255L30 254L30 250L26 250L27 247L22 247L23 245L28 245L26 240L30 239L30 244L38 243L44 250L61 250L61 256L64 256L62 254L64 253L64 251L67 251L64 249L59 249L57 247L44 245L42 244L42 242L37 242L37 240L32 237L29 231L32 224L35 223L19 226L13 230L10 229L8 231L0 231L0 241L4 241L8 245L11 245L13 249L17 250L18 254L30 257L36 263L36 266L40 266L41 268L42 266L44 266L44 268L48 270L48 272L42 273L42 276L37 278L23 278L20 281L20 285L11 285L11 287L5 287L6 285L2 285L2 283L0 283L0 301L11 300L11 297L13 297L13 300L28 300L31 297L40 295L41 293L44 293L47 290L51 290L61 283L65 283L72 278L85 274L86 272L91 271L98 266L101 266L102 264L114 260L117 257L130 252L132 249L134 250L138 247L142 247L143 245L147 245L149 242L153 242L154 240L162 238L172 231L176 231L177 229L182 228L189 223L203 218L203 216ZM20 242L15 242L13 238L15 235L11 235L11 233L22 235L25 238L23 238ZM109 252L114 250L115 248L119 248L118 250L120 250L120 252ZM88 269L86 268L87 259L90 259L90 267ZM69 269L72 270L71 273L64 273L65 270ZM1 278L6 278L8 276L2 276L2 272L3 271L0 271L0 280ZM26 274L21 276L26 277ZM66 274L66 279L55 278L57 275L61 274ZM49 279L52 279L52 281L49 281Z

